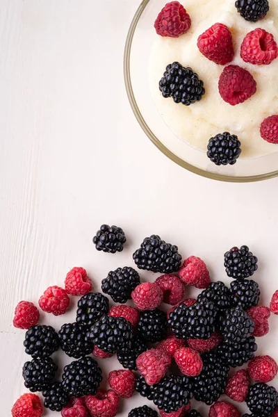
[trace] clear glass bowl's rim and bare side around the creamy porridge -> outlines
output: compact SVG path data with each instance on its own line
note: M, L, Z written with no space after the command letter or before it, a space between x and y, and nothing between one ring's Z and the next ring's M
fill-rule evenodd
M248 182L277 177L278 152L259 158L239 158L235 165L211 163L205 152L174 135L164 122L149 88L149 56L156 32L154 20L165 0L143 0L133 17L124 50L124 81L133 113L150 140L186 170L220 181ZM278 150L278 147L277 147Z

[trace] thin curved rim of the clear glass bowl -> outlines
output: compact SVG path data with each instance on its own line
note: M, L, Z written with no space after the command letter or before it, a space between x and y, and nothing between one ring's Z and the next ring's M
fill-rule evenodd
M243 182L253 182L253 181L262 181L264 179L270 179L275 178L278 176L278 170L268 172L265 174L259 174L259 175L250 175L248 177L232 177L229 175L222 175L217 174L214 172L208 172L206 170L202 170L202 168L195 167L194 165L191 165L190 163L183 161L183 159L179 158L179 156L175 155L173 152L171 152L163 143L156 137L156 135L152 132L152 130L149 128L147 123L145 122L144 117L142 117L142 113L140 112L140 109L138 107L138 104L136 102L136 98L133 93L132 83L131 83L131 72L130 72L130 58L131 58L131 46L133 41L133 35L136 31L137 24L139 22L139 19L147 7L147 4L152 0L142 0L140 3L140 6L136 10L136 14L134 15L131 26L129 27L129 32L127 33L126 37L126 43L124 47L124 84L126 87L126 93L129 98L129 103L131 105L131 108L133 110L133 113L140 124L142 130L146 133L148 138L152 140L154 145L163 152L167 158L170 158L174 163L177 163L181 167L185 168L186 170L193 172L195 174L198 174L202 177L215 179L218 181L226 181L226 182L237 182L237 183L243 183Z

